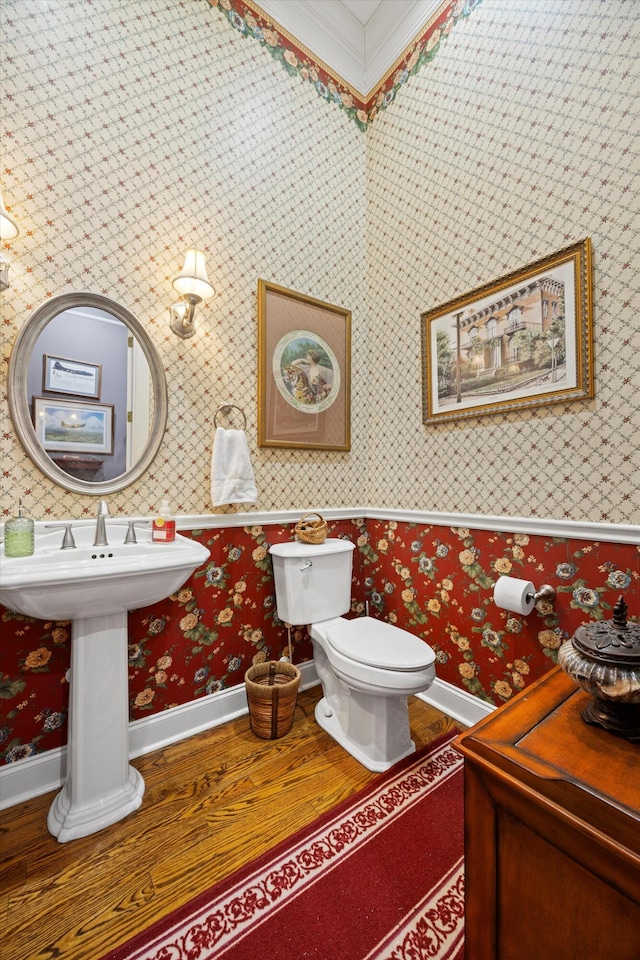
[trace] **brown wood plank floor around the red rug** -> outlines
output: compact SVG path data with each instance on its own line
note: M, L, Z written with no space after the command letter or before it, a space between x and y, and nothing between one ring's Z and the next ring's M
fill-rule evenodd
M91 837L49 835L55 794L4 811L0 958L99 960L373 780L316 724L319 696L279 740L242 717L133 761L142 807ZM417 747L456 726L414 698L409 714Z

